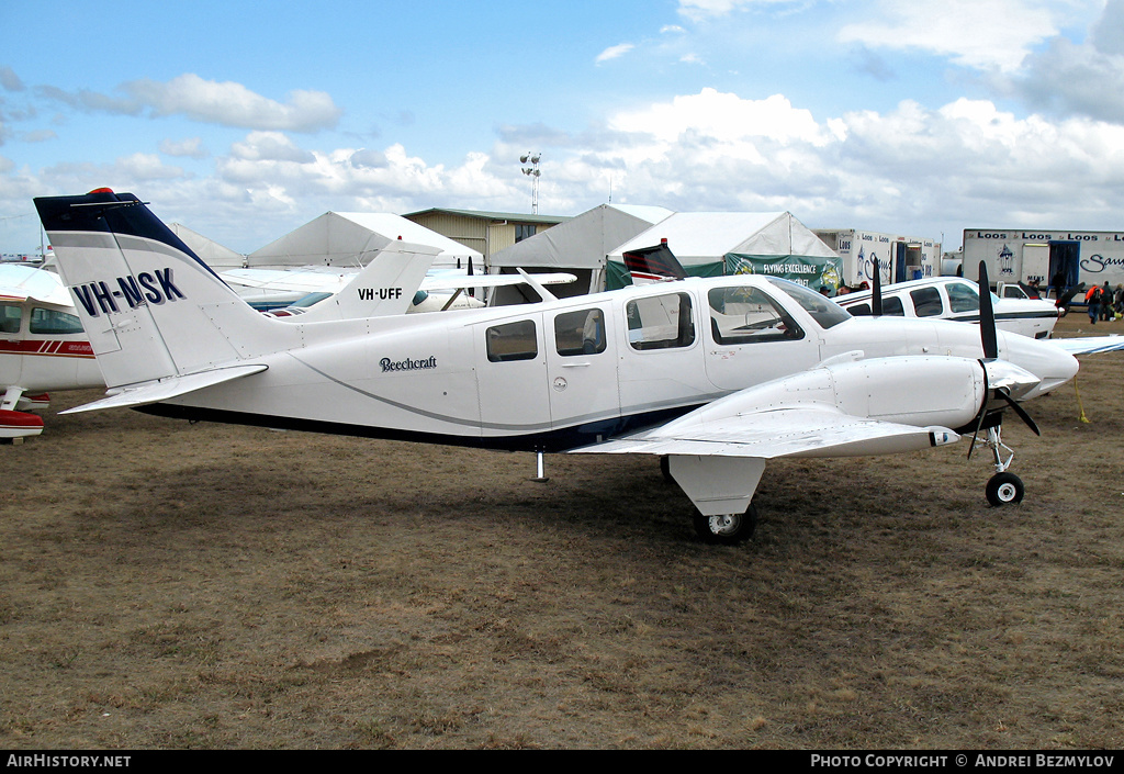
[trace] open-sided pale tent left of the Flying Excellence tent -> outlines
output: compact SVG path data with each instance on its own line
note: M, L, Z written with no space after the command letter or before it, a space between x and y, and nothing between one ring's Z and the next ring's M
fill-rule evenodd
M565 223L540 232L491 256L492 273L566 271L578 276L570 286L559 286L559 295L596 292L605 287L606 255L673 213L663 207L599 205ZM495 303L507 303L497 291Z

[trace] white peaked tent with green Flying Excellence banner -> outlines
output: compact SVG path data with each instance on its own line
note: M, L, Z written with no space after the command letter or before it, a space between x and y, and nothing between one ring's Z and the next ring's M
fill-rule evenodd
M609 253L606 288L632 284L624 253L661 240L692 277L759 273L834 289L843 266L791 213L676 213Z

